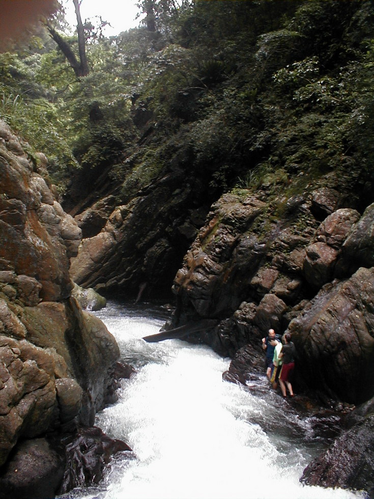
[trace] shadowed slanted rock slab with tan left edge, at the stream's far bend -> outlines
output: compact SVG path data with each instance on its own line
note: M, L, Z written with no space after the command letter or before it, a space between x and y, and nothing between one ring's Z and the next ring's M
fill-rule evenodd
M87 237L71 260L73 281L104 295L120 290L169 296L182 256L209 210L209 202L201 206L208 199L205 189L201 179L186 182L184 170L167 165L128 202L116 206L108 196L76 215Z

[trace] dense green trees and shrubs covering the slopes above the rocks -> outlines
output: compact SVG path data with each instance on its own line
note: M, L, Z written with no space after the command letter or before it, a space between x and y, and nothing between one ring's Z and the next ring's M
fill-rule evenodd
M176 164L200 172L211 201L270 174L372 180L370 0L141 5L139 29L107 39L88 26L88 76L46 33L0 56L0 117L48 155L62 191L80 177L125 203Z

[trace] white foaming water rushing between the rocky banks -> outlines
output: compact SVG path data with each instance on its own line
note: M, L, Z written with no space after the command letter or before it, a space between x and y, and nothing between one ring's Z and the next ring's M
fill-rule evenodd
M222 381L229 359L181 340L146 343L162 309L109 303L97 313L136 369L96 425L133 449L118 454L99 486L79 499L345 499L341 489L303 486L304 467L323 448L315 419L269 390Z

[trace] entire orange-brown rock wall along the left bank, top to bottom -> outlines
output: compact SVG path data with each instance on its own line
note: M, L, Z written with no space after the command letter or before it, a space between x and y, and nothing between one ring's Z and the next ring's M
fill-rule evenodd
M37 164L28 159L17 137L0 122L2 490L14 478L5 472L7 459L17 459L28 445L33 446L35 465L46 459L55 477L62 476L61 457L43 438L93 425L96 411L107 396L112 398L112 374L120 355L105 325L82 312L71 297L69 259L77 254L81 231L41 173L43 155ZM31 497L22 495L22 487L29 490L30 484L20 477L20 496ZM51 496L54 485L37 489L38 497Z

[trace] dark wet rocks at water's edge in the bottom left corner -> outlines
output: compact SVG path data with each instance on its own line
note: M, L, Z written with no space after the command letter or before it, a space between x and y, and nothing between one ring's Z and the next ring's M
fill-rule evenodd
M98 483L118 452L131 451L97 427L71 434L22 440L0 476L0 497L50 499L74 487Z

